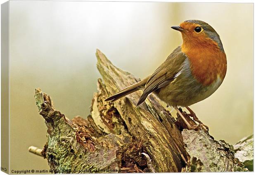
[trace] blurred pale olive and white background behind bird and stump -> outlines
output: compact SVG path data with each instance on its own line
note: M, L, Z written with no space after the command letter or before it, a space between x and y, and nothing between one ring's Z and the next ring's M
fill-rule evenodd
M86 118L101 77L96 48L145 78L181 45L180 33L170 27L187 19L213 26L228 58L223 84L191 108L217 140L235 144L252 134L253 4L10 1L11 170L49 169L28 152L47 140L35 88L68 118Z

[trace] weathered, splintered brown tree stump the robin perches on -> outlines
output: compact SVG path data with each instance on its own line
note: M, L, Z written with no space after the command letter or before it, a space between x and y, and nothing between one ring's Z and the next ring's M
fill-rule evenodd
M215 141L204 130L187 130L154 94L139 107L135 104L140 91L114 103L105 102L106 97L139 79L116 68L99 50L96 56L104 83L98 80L91 115L86 119L76 116L70 121L55 110L49 95L36 89L36 104L45 118L48 138L43 150L31 147L30 151L47 158L52 172L247 170L243 164L246 160L235 158L232 145ZM244 149L241 146L239 150Z

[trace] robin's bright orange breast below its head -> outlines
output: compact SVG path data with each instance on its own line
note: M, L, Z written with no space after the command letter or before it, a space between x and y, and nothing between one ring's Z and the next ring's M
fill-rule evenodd
M225 52L221 51L217 43L213 41L201 45L183 45L181 47L190 60L192 76L204 86L224 79L227 71L227 59Z

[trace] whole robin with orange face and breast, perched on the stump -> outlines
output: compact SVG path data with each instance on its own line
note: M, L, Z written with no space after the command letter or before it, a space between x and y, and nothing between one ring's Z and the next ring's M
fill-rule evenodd
M187 20L180 26L172 26L180 31L183 44L178 46L167 59L144 80L108 97L105 101L124 97L143 89L137 106L154 92L159 99L178 112L188 129L204 125L188 107L206 99L223 82L227 71L227 59L218 33L206 22ZM199 125L190 125L177 106L185 106ZM208 130L208 127L204 125Z

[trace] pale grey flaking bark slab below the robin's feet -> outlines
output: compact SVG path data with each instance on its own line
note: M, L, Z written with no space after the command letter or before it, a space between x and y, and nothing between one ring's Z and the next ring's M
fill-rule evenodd
M183 130L183 141L190 155L189 172L245 171L235 158L232 145L224 140L216 141L203 130Z

